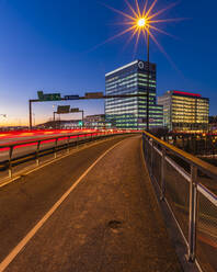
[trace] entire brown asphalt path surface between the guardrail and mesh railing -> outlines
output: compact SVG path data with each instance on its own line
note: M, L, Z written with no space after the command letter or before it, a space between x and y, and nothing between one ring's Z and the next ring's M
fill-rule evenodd
M100 143L23 177L0 190L0 271L182 271L140 136Z

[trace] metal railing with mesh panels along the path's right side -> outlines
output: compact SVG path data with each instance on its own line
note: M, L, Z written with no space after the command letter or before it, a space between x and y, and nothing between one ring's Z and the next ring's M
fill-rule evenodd
M217 168L145 132L146 163L182 234L187 259L217 271Z

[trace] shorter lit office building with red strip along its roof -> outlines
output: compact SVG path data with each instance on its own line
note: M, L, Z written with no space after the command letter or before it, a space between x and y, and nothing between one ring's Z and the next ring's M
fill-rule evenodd
M168 91L158 98L163 105L163 125L173 132L204 132L208 129L209 99L201 94Z

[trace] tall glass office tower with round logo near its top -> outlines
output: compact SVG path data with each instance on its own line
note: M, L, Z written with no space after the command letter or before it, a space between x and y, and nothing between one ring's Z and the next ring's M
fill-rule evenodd
M149 126L163 125L162 105L156 104L156 65L149 64ZM105 75L106 95L141 94L113 98L105 102L105 118L116 128L145 129L147 120L148 63L135 60Z

